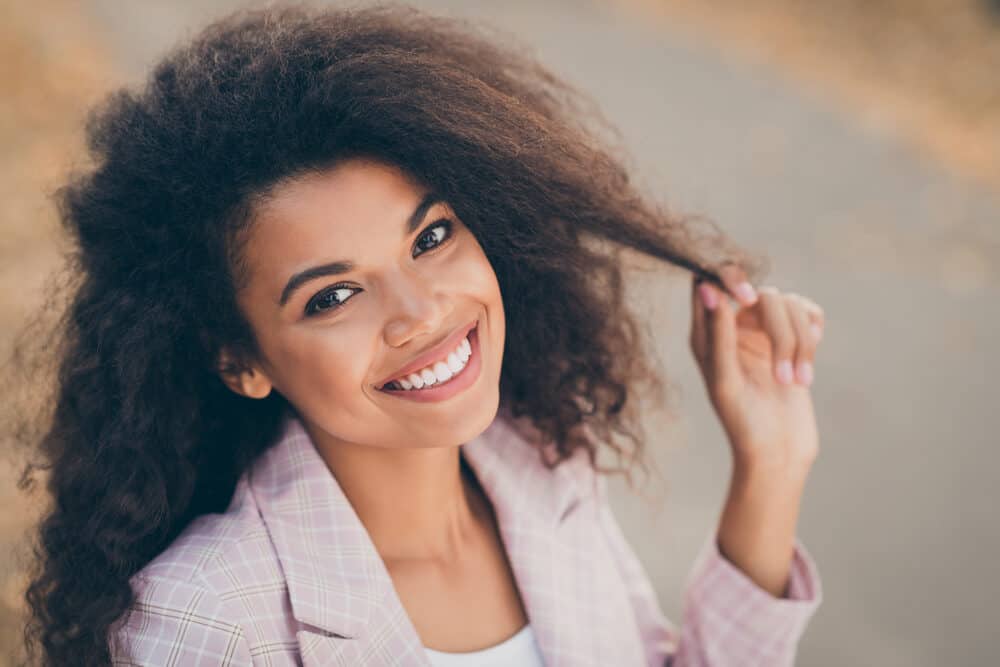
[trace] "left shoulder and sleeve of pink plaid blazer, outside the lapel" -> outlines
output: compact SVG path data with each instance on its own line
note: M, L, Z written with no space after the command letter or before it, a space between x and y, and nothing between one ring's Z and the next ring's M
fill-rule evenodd
M249 664L251 645L289 631L284 576L245 479L224 513L192 521L130 584L133 604L113 627L116 664ZM277 627L262 629L255 614Z

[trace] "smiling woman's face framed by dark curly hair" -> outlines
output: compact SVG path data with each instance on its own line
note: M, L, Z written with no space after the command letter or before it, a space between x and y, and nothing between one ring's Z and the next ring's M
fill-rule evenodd
M436 447L481 433L499 405L500 287L479 242L432 194L360 158L280 186L258 211L237 295L262 358L227 384L257 397L277 390L314 437L335 442ZM434 390L459 391L418 401L380 390L445 341L421 367L447 365L473 325L472 357L452 358L461 370Z

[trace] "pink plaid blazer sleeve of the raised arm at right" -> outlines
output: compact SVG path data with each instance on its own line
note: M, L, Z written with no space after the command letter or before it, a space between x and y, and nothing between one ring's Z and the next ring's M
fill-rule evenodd
M799 639L823 599L816 564L797 538L787 598L758 586L719 551L715 533L688 575L680 627L625 540L598 475L598 514L625 581L650 667L791 666Z

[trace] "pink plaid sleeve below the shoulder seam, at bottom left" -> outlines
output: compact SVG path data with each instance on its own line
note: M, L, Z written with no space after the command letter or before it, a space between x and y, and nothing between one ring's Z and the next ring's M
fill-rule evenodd
M133 577L136 601L111 628L113 665L249 665L243 629L217 595L196 583Z

